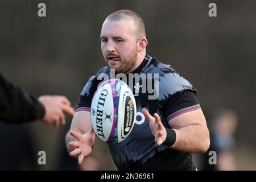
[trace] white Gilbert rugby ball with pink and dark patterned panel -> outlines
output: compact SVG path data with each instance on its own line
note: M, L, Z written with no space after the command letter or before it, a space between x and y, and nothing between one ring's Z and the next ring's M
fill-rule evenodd
M118 79L103 82L93 96L92 126L107 143L122 142L133 130L136 102L129 86Z

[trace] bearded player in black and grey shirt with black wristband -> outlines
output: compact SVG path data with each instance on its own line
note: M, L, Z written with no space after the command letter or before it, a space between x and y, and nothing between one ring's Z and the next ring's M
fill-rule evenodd
M100 73L110 75L110 69L126 75L157 73L159 94L155 100L148 100L149 93L138 93L142 80L134 83L139 117L129 137L109 144L113 160L119 170L196 170L191 152L205 152L209 147L207 123L196 89L169 65L147 55L144 23L137 13L119 10L110 14L102 24L100 38L107 67L90 77L81 92L71 131L66 136L70 155L78 155L81 164L92 152L95 132L90 104L101 82L97 79Z

